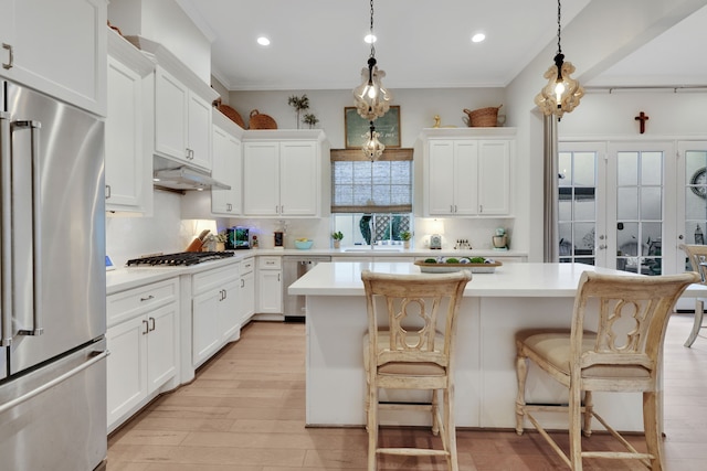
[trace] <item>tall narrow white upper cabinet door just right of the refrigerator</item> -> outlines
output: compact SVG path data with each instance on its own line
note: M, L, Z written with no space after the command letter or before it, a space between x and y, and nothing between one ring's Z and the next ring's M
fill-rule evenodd
M151 211L154 64L113 30L108 34L106 211Z

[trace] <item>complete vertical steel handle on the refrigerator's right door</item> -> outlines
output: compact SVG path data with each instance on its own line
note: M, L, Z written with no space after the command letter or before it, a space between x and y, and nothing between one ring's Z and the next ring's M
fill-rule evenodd
M31 152L32 152L32 281L33 281L33 309L32 309L32 328L20 329L19 335L41 335L44 332L42 327L41 301L42 301L42 194L40 181L40 121L19 120L12 124L15 129L27 129L30 131Z

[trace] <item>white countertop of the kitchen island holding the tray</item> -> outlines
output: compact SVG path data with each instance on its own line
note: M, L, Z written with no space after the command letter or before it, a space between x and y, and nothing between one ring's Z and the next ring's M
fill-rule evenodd
M361 270L387 274L420 274L420 267L405 263L325 263L318 264L288 288L291 295L363 296ZM582 264L507 263L493 274L473 274L466 297L574 297L583 271L631 275ZM692 286L686 296L705 296L705 287Z

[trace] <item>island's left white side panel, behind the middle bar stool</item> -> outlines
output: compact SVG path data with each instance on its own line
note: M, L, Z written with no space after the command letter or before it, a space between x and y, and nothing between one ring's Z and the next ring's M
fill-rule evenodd
M460 427L479 425L479 317L474 315L477 306L478 299L465 298L457 325L455 418ZM307 426L363 426L366 298L308 296L306 325ZM421 400L418 395L407 393L395 397ZM430 425L430 416L386 411L381 422Z

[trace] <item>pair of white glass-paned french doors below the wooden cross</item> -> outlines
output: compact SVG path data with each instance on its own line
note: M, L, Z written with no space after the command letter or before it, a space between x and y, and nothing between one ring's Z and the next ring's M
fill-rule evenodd
M663 247L663 240L676 239L673 148L672 142L559 143L560 261L674 272L676 244L667 251Z

